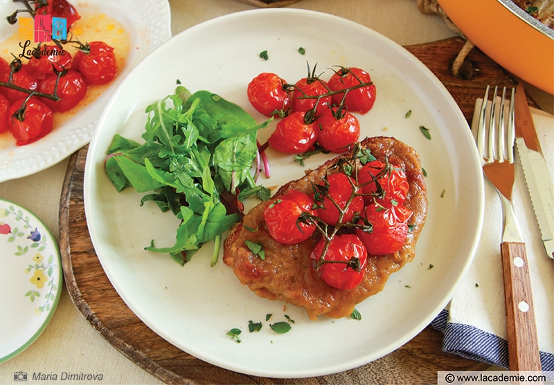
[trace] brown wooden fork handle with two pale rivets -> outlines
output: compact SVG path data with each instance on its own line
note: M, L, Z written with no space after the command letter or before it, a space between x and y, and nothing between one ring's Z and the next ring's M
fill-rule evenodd
M524 243L500 245L510 370L539 371L539 340Z

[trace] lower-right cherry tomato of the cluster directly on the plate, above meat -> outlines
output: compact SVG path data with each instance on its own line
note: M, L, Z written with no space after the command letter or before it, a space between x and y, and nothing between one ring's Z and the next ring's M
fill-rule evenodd
M316 120L316 132L317 141L325 150L345 152L359 139L359 120L345 109L324 108Z

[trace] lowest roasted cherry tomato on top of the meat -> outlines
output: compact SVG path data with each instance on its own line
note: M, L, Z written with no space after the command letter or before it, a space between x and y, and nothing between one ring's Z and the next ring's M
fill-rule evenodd
M322 239L314 247L310 258L318 261L324 246L325 240ZM335 235L324 259L332 261L332 263L323 263L319 268L321 279L328 285L336 289L351 290L364 279L368 255L364 244L356 235Z

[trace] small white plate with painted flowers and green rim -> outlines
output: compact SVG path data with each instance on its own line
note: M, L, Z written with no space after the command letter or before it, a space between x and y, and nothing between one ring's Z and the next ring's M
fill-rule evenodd
M60 300L60 249L35 214L0 199L0 362L25 350Z

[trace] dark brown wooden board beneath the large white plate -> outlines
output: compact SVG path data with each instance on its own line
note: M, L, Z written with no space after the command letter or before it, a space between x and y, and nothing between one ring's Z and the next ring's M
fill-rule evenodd
M476 68L472 80L454 77L449 62L463 46L458 37L406 46L445 84L471 121L476 98L487 84L515 85L500 66L477 48L468 59ZM534 105L530 101L531 105ZM60 251L69 294L80 312L114 348L172 384L369 384L435 383L439 370L483 370L487 364L442 352L443 335L427 327L391 354L336 375L307 379L271 379L234 373L207 364L172 346L137 318L112 287L89 238L83 206L84 164L87 148L71 156L60 200Z

